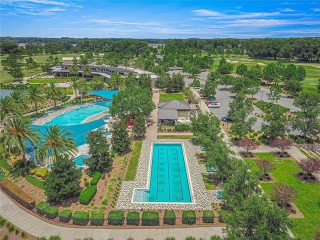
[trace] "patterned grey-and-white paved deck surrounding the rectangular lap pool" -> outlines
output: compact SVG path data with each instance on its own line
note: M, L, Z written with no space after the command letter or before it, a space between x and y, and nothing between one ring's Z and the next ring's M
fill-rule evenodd
M184 144L189 180L191 181L191 197L193 202L132 202L134 188L147 188L149 178L149 164L151 147L153 142L176 142ZM202 179L205 166L198 163L195 152L199 152L200 147L185 139L145 139L142 143L140 159L134 181L123 181L116 208L119 209L211 209L211 203L219 202L217 190L207 190ZM193 193L192 193L193 191Z

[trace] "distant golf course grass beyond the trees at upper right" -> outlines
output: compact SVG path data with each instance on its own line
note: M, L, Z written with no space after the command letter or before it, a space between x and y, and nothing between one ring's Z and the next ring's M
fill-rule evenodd
M306 91L316 91L316 84L318 83L318 79L320 78L320 63L304 63L304 62L296 62L296 61L284 61L284 60L265 60L265 59L246 59L247 56L243 57L226 57L224 58L230 61L238 61L238 62L230 62L233 65L232 72L235 73L236 67L240 64L246 65L248 68L254 66L258 63L263 63L265 65L276 62L282 61L284 64L293 63L295 65L301 65L305 68L306 76L305 79L302 81L303 89ZM243 59L241 59L243 58ZM214 58L214 63L212 64L212 68L216 69L219 65L219 60L221 57ZM246 60L244 60L246 59ZM263 69L265 65L260 64L261 68Z

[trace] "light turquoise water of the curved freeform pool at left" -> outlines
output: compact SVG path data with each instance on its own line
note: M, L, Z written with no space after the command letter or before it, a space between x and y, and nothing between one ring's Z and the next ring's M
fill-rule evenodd
M94 114L109 109L111 102L100 102L97 104L82 106L78 109L65 112L64 114L54 117L52 120L45 122L43 125L58 124L63 126L76 125L82 123L86 118Z

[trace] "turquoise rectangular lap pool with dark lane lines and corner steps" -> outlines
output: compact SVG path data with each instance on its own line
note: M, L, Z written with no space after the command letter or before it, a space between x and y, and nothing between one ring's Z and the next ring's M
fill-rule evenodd
M182 144L153 144L149 189L136 189L133 201L191 202Z

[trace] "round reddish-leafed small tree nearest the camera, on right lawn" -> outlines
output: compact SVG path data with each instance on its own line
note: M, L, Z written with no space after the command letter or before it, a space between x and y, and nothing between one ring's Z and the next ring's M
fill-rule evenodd
M294 201L297 190L284 182L277 182L271 189L271 196L276 199L281 207L285 207L289 202Z

